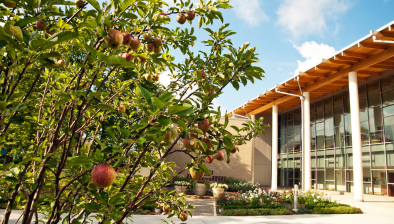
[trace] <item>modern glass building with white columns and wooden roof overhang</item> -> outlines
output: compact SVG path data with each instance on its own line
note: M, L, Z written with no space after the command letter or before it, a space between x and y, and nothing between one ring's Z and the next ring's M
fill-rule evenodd
M229 115L270 124L271 139L255 139L252 153L272 152L271 169L255 171L271 189L394 197L394 21Z

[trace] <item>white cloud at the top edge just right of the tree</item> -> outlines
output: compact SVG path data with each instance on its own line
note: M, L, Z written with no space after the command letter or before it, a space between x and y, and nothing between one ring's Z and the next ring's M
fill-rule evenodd
M257 26L262 21L267 21L269 17L260 7L259 0L231 0L230 4L238 18L250 26Z

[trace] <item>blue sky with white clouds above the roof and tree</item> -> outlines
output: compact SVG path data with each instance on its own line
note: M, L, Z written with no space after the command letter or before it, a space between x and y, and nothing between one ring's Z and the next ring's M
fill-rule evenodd
M257 46L258 66L266 77L238 92L231 85L225 88L214 103L228 111L394 20L394 0L230 0L230 4L234 8L222 12L224 23L237 32L232 42L235 47L245 42ZM170 26L180 26L173 17ZM218 21L210 28L221 25ZM202 29L195 34L199 41L208 38ZM197 44L194 49L204 47ZM182 61L180 52L173 54Z

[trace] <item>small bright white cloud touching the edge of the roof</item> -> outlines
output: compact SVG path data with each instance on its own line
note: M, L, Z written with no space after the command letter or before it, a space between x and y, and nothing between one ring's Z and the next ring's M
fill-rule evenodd
M327 59L335 54L335 49L327 44L318 44L315 41L304 42L301 46L293 44L293 47L298 50L305 61L297 60L298 68L295 70L294 74L298 72L304 72L313 66L316 66L322 61L322 59Z

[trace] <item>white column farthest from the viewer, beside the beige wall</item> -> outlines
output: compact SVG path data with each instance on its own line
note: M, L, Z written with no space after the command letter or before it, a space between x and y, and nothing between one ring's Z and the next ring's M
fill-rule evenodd
M272 175L271 190L278 189L278 106L272 106Z

